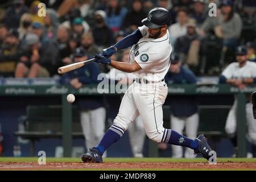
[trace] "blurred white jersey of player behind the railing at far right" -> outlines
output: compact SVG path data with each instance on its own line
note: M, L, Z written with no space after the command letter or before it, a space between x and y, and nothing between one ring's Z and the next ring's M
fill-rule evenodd
M251 78L256 77L256 63L246 61L243 67L239 67L239 63L231 63L222 72L226 78Z

